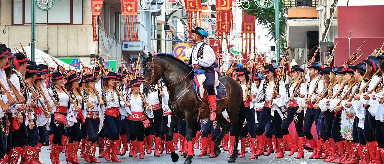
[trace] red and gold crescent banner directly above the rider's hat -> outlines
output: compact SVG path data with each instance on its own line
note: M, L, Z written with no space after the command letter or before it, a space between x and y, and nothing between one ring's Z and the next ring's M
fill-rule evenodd
M195 18L195 27L198 26L197 18L199 16L199 23L201 27L201 0L184 0L185 4L185 13L187 15L188 28L189 28L189 38L192 36L192 13Z

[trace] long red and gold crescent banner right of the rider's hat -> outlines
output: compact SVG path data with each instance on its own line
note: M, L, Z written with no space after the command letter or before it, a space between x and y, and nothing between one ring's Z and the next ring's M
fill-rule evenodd
M232 29L233 15L232 15L232 0L216 0L216 32L218 37L218 52L222 51L223 34L225 33L225 40L227 41L227 48L229 52L228 34Z

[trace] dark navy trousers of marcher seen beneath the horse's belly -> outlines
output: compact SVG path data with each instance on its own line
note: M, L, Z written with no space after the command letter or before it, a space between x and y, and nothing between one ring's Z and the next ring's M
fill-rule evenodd
M218 124L217 121L211 121L208 118L201 120L201 138L207 138L208 134L212 134L211 140L215 141L220 133L220 124Z

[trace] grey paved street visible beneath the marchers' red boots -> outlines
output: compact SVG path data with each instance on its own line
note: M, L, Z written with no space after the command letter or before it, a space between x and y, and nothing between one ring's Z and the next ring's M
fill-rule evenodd
M48 146L44 146L44 148L41 149L41 153L40 153L40 161L43 162L44 164L51 163L50 156L49 156L50 151L46 150L47 148L48 148ZM248 148L247 148L247 150L248 150ZM96 151L96 156L98 156L98 152L99 151ZM176 150L176 152L180 155L178 150ZM199 154L199 152L200 152L200 150L195 149L195 154ZM286 152L286 154L288 154L288 153L289 152ZM312 153L307 153L306 150L305 150L305 153L306 154L305 154L304 159L293 158L294 156L296 156L297 153L295 153L295 155L290 156L290 157L285 156L285 158L283 158L283 159L275 159L276 154L274 153L274 154L271 154L270 156L259 156L259 159L256 159L256 160L248 160L248 157L251 155L251 153L247 153L246 154L247 158L237 158L236 163L244 163L244 164L251 164L251 163L300 164L301 162L309 162L310 164L325 163L325 162L323 162L323 160L320 160L320 159L308 159L308 156L310 156L310 154L312 154ZM80 151L79 151L78 156L80 157ZM192 158L192 162L194 162L195 164L223 164L223 163L227 163L227 160L228 160L227 156L228 156L228 152L222 151L220 156L218 156L216 158L209 158L209 156L204 156L204 157L194 156ZM148 164L148 163L152 163L152 164L154 164L154 163L156 163L156 164L174 164L174 162L171 161L170 155L166 155L165 152L163 154L161 154L161 157L154 157L153 152L151 155L146 154L145 159L139 159L139 154L137 154L136 159L129 158L128 152L126 155L118 156L118 157L121 160L121 163L123 163L123 164ZM98 158L98 160L101 161L102 164L111 163L111 162L107 162L104 158ZM79 161L81 164L88 163L88 162L84 161L84 159L82 159L82 158L80 158ZM63 154L63 153L60 154L60 162L66 163L65 162L65 154ZM184 163L184 158L182 156L179 156L179 161L176 163L177 164Z

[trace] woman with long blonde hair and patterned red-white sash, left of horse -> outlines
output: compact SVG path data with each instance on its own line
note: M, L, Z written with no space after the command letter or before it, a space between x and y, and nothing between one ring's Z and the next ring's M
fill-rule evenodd
M84 104L85 111L85 123L82 125L82 127L85 128L86 132L88 133L88 139L86 140L86 147L89 151L87 151L86 154L84 154L84 159L87 162L92 163L101 163L96 159L96 147L97 147L97 140L98 140L98 133L101 130L101 127L103 126L103 111L104 111L104 102L103 100L99 100L98 95L102 95L101 92L96 90L95 88L95 82L96 79L93 77L92 74L84 75L84 90L82 90L82 94L86 98L86 100L89 102L91 107L89 107L87 104ZM97 93L98 92L98 93Z

